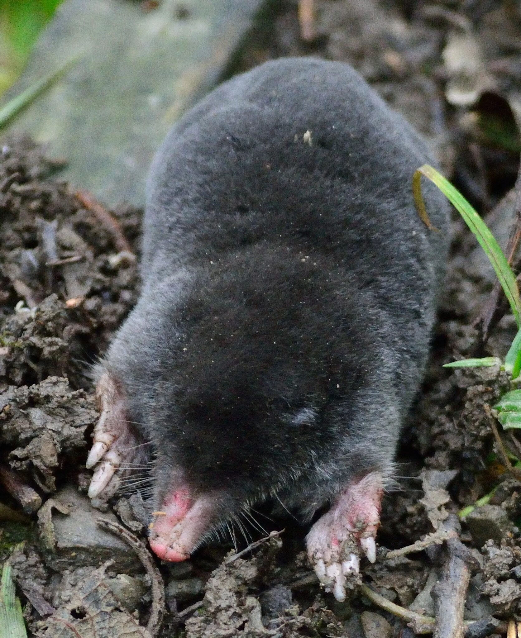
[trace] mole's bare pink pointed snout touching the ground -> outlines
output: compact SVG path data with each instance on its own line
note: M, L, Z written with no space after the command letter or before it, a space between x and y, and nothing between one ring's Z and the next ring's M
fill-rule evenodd
M211 527L214 516L215 505L210 496L193 500L188 488L177 489L165 498L160 516L153 521L152 551L163 560L186 560Z

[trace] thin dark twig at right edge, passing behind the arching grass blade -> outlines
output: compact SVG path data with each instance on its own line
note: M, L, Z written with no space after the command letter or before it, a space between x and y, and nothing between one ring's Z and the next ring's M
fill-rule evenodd
M517 180L515 182L514 188L509 191L504 198L497 204L492 211L492 216L496 214L496 211L500 211L505 205L510 205L512 202L514 203L514 216L512 219L512 223L510 226L510 234L508 237L508 243L506 245L506 257L508 263L512 265L517 250L519 248L519 244L521 242L521 164L519 167L519 172L517 175ZM515 269L517 269L519 264L515 264ZM474 327L479 330L481 333L481 339L479 340L479 346L483 346L483 344L487 343L487 340L490 336L490 333L497 325L502 316L506 313L508 309L508 304L504 299L504 293L501 288L501 284L499 280L496 279L494 282L494 287L492 288L492 292L488 296L485 305L479 312L478 317L474 321Z

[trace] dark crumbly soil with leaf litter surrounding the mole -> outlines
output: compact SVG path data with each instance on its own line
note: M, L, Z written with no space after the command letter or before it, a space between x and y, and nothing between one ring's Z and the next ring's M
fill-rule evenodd
M314 33L303 41L297 3L271 6L229 72L288 55L353 64L426 135L445 174L504 243L513 200L496 205L514 186L521 150L518 4L316 0L315 10ZM513 464L521 445L490 410L511 383L499 366L441 367L469 355L504 357L516 327L507 314L481 343L472 324L493 279L456 216L432 357L384 500L378 560L363 563L338 603L317 586L303 553L306 530L291 519L259 519L285 531L241 556L222 542L155 567L139 540L146 544L139 493L120 495L105 512L91 507L84 463L98 410L89 365L139 295L141 211L107 211L74 193L59 181L59 164L30 140L3 140L0 561L11 556L31 635L405 638L418 625L375 603L361 582L432 616L447 602L433 586L449 560L470 579L465 618L478 624L467 635L504 633L521 618L521 482L494 428ZM99 517L108 521L103 530ZM249 531L253 540L262 535ZM437 542L427 549L396 552L432 533ZM453 544L441 544L450 534ZM461 547L451 554L454 542Z

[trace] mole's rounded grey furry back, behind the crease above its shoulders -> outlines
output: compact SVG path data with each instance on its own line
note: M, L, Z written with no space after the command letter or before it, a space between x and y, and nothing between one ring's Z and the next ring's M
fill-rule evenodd
M375 260L384 278L408 263L428 269L445 251L413 205L412 174L426 162L421 137L347 64L263 64L200 101L163 143L148 183L144 274L281 241L371 277ZM443 196L424 190L445 230Z

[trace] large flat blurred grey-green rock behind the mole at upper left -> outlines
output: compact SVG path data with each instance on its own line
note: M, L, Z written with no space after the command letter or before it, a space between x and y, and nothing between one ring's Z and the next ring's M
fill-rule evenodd
M66 0L11 96L78 56L11 124L50 144L61 174L107 204L144 203L144 179L172 124L211 88L262 0Z

